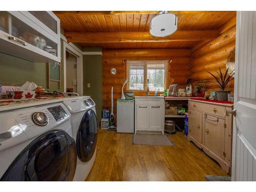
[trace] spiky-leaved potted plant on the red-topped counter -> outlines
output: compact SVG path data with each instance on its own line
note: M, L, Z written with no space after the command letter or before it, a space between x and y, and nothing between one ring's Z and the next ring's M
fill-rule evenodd
M216 94L217 94L217 98L219 101L226 101L227 100L227 94L230 92L230 91L225 91L225 88L227 86L227 84L233 80L234 78L232 77L233 74L234 74L234 71L231 71L228 73L228 69L226 69L225 73L222 73L221 72L221 68L220 69L220 73L218 73L216 71L216 73L218 75L214 75L210 72L207 71L207 73L209 73L212 77L214 77L215 81L208 81L208 82L211 82L211 83L214 83L216 84L218 87L221 88L220 91L216 91Z

